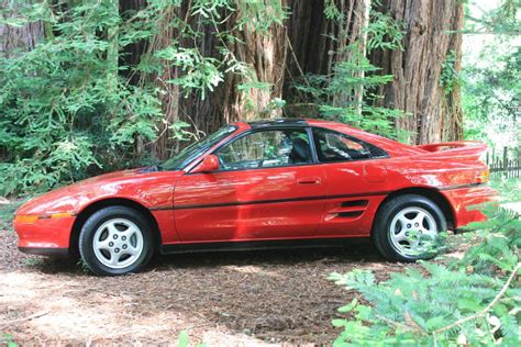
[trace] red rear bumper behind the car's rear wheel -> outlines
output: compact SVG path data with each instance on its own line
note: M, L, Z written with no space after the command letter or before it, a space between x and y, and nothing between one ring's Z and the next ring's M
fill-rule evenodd
M461 228L472 222L485 221L487 216L479 208L469 208L499 199L499 193L485 184L444 190L442 193L452 205L454 228Z

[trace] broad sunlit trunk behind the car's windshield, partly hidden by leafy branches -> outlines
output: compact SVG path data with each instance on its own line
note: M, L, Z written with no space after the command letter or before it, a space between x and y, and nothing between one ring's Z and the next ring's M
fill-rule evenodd
M143 5L144 0L134 0ZM280 5L286 5L286 0L278 0ZM274 5L266 1L266 7ZM234 58L250 66L251 74L241 76L228 72L224 81L215 87L213 92L208 92L204 98L199 93L181 96L179 87L166 81L173 80L182 74L178 68L164 61L163 74L155 76L157 86L164 91L163 110L164 119L159 127L159 136L153 143L152 150L158 158L170 156L177 152L182 142L173 138L168 125L182 121L190 125L188 131L200 137L215 131L223 124L239 120L252 120L256 117L270 117L280 114L279 111L270 111L269 102L275 98L281 98L284 86L284 69L286 67L286 29L279 24L273 24L267 32L259 32L252 26L242 30L236 29L236 21L243 13L222 13L228 20L217 27L204 23L198 15L190 12L190 2L184 2L180 8L170 7L164 13L163 22L159 23L159 33L147 44L147 52L163 49L171 44L176 37L177 30L170 25L174 16L181 16L185 22L197 27L201 33L198 38L197 48L204 57L219 57L218 46L223 43L217 38L217 31L231 31L241 42L235 42L228 48ZM268 10L269 11L269 10ZM229 18L230 15L230 18ZM181 45L193 45L192 41ZM237 87L244 83L260 82L267 88L247 88L240 90Z

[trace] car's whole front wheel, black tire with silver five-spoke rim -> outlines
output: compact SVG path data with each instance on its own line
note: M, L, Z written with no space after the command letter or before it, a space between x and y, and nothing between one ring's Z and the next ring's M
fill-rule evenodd
M154 249L147 220L126 206L93 213L79 236L79 253L96 275L115 276L142 270Z

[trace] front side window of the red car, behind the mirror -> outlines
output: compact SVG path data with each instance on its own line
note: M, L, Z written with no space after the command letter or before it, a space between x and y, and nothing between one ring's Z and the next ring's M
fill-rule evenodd
M223 170L244 170L312 163L303 128L255 132L233 141L215 155Z

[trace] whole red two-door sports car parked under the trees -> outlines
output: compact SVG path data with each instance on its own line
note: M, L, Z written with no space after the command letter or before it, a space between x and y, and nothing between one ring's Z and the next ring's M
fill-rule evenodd
M442 150L445 148L445 150ZM340 244L372 237L389 260L432 256L446 230L491 200L486 146L408 146L344 124L226 125L157 167L60 188L16 212L19 248L135 272L155 253Z

